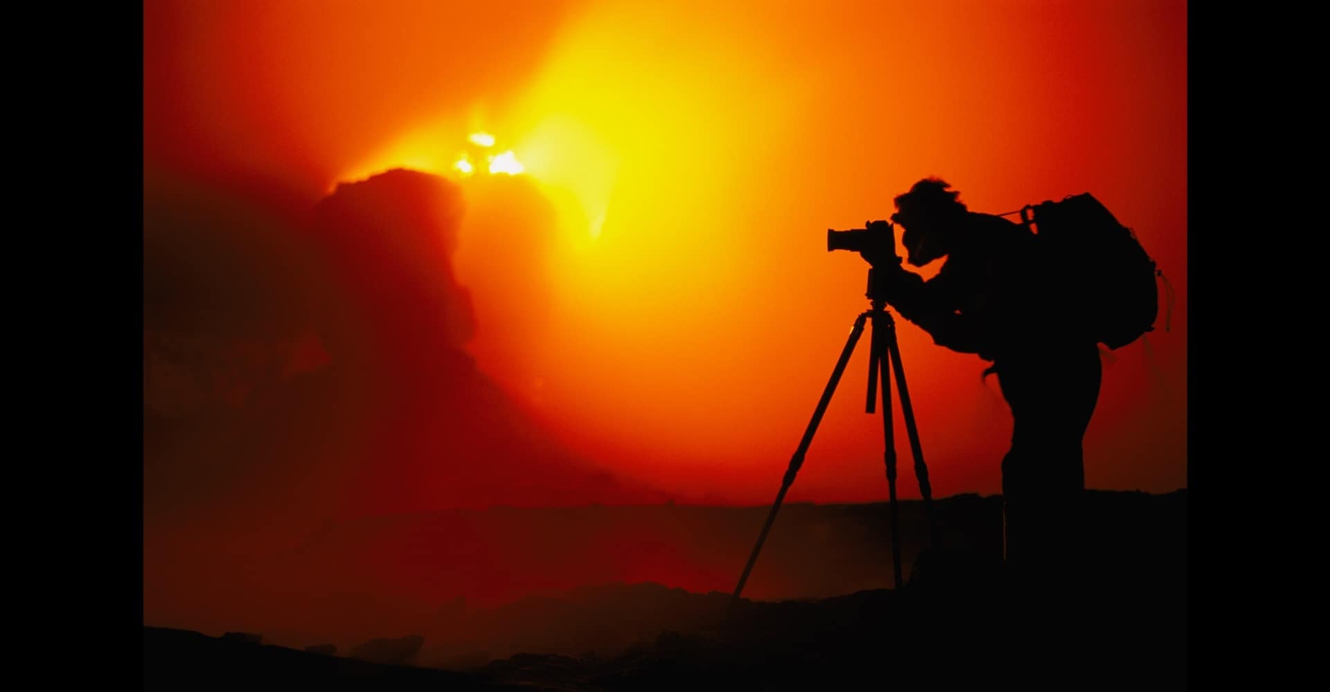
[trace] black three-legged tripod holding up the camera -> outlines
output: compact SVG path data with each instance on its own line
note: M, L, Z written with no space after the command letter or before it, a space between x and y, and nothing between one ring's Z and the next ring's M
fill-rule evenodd
M835 364L835 369L831 371L831 379L827 381L826 389L822 392L822 398L818 401L817 409L813 412L813 420L809 421L809 426L803 430L803 440L799 441L798 449L794 450L794 456L790 458L790 468L785 472L785 479L781 483L781 491L775 495L775 503L771 505L771 513L766 517L766 525L762 526L762 533L757 538L757 545L753 546L753 554L749 557L747 564L743 567L743 574L739 576L738 586L734 587L734 595L732 596L732 603L739 599L739 594L743 591L743 583L747 582L749 574L753 571L753 564L757 562L757 555L762 550L762 543L766 541L766 534L771 530L771 525L775 522L775 513L781 510L781 502L785 501L785 494L794 485L794 477L799 473L799 468L803 466L803 457L809 452L809 445L813 444L813 436L818 430L818 424L822 422L822 416L827 410L827 405L831 402L831 394L835 393L835 387L841 381L841 375L845 373L846 364L850 363L850 355L854 353L854 347L859 341L859 336L863 335L863 325L866 320L872 320L872 335L870 337L870 351L868 351L868 402L866 406L867 413L874 412L874 398L878 394L878 376L882 376L882 432L886 436L886 453L883 454L883 461L887 466L887 487L890 493L891 505L891 561L892 572L895 576L896 588L900 588L900 514L896 506L896 449L895 449L895 432L892 430L891 420L891 372L887 371L883 361L890 361L891 371L896 376L896 389L900 393L900 412L906 420L906 433L910 437L910 452L914 454L915 462L915 477L919 478L919 491L923 494L924 510L928 514L928 530L930 539L935 541L938 535L938 522L932 511L932 489L928 485L928 468L923 462L923 448L919 445L919 429L915 426L914 409L910 406L910 390L906 387L906 371L900 364L900 347L896 343L896 324L890 312L886 311L886 300L883 299L884 291L874 275L875 270L868 270L868 291L864 294L868 298L870 308L854 320L854 327L850 329L850 339L845 344L845 349L841 351L841 359Z

